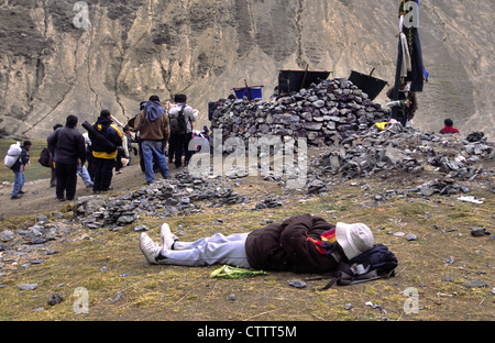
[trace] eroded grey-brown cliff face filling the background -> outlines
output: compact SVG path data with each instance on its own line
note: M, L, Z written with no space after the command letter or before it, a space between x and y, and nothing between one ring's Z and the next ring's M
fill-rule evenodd
M0 1L1 135L45 137L68 114L91 121L101 109L125 122L141 100L177 92L200 110L202 125L208 101L244 79L265 86L267 98L285 68L309 66L331 77L375 68L374 76L394 80L396 0L85 3L87 27L76 1ZM463 134L493 135L491 1L420 5L430 81L415 125L437 131L450 117Z

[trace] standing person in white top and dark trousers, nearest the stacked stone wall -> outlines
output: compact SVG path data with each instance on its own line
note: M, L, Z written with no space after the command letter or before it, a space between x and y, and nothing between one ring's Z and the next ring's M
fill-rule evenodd
M168 162L174 163L175 167L180 168L184 164L189 164L193 151L189 150L189 142L193 140L193 122L198 118L198 112L187 106L186 95L176 95L174 97L175 106L168 110L170 122L170 139L168 141Z

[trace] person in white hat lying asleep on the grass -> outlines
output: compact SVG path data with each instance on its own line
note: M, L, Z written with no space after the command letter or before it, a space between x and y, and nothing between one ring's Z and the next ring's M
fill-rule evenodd
M195 242L180 242L164 223L160 243L141 233L140 247L150 264L207 266L224 264L272 272L331 273L341 259L352 259L374 246L363 223L329 224L311 214L272 223L251 233L217 233Z

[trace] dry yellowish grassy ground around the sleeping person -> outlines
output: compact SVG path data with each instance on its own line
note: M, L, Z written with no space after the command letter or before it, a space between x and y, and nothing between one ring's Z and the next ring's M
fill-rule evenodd
M327 280L307 281L302 289L288 286L289 280L304 280L311 275L268 273L250 279L211 279L209 274L217 267L150 266L139 248L134 224L117 232L80 229L53 243L50 248L58 254L41 257L46 261L26 268L21 266L26 261L19 261L10 266L16 268L15 273L0 277L0 285L7 285L0 289L0 320L493 320L495 241L470 235L473 226L493 229L493 197L475 190L474 196L485 199L483 204L460 202L453 197L393 199L377 204L372 200L374 191L400 187L404 181L400 185L382 179L365 181L365 192L355 182L344 182L334 186L326 197L300 198L295 193L276 209L254 211L254 203L205 207L204 213L166 221L173 231L183 225L184 241L216 232L246 232L262 226L265 219L282 221L297 213L321 215L329 222L365 222L373 229L375 241L397 255L399 266L394 278L326 291L318 289ZM245 179L237 191L279 190L273 182ZM72 212L65 215L70 218ZM163 222L151 217L139 221L151 228L148 233L154 240L158 240ZM2 224L26 228L33 224L33 219L9 219ZM414 233L418 240L391 234L396 232ZM450 256L455 258L453 264L446 262ZM25 259L35 257L26 254ZM448 277L452 279L446 281ZM490 287L464 286L474 279L484 280ZM37 283L38 288L21 291L18 287L32 283ZM418 298L404 295L410 287ZM63 295L64 301L47 305L56 292ZM367 301L375 307L366 305ZM410 303L416 303L417 310Z

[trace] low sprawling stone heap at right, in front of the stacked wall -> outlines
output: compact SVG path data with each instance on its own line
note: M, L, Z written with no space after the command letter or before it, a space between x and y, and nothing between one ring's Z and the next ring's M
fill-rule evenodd
M427 168L451 179L472 181L480 175L493 175L493 170L484 170L476 163L494 158L494 142L486 139L473 142L399 124L386 130L374 126L324 148L310 163L308 174L312 179L308 185L315 191L318 180L332 175L353 179L389 172L420 174Z

